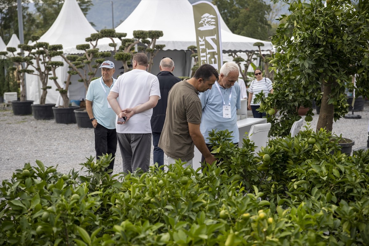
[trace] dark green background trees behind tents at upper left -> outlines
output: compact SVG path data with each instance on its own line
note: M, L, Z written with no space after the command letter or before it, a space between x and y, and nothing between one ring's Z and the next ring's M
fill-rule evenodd
M65 0L33 0L35 11L30 11L30 0L22 0L24 43L31 35L42 36L54 23ZM90 10L92 0L77 0L83 14ZM94 25L93 23L91 23ZM16 0L0 1L0 36L7 44L13 33L18 34L18 13Z

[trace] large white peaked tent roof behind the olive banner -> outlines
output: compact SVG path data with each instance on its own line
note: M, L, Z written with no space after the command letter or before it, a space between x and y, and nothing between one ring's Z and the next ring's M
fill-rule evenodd
M268 41L233 34L221 18L223 52L253 51L255 42L262 42L262 50L272 49ZM165 44L163 50L187 50L196 45L196 33L192 5L188 0L141 0L135 10L115 31L126 32L133 37L134 30L161 30L163 37L156 44Z

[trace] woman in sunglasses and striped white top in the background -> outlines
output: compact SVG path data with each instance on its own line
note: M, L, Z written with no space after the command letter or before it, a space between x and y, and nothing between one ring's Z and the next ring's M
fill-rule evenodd
M272 81L269 78L265 78L262 75L261 69L255 69L254 71L256 79L254 79L249 86L249 98L247 108L252 110L254 118L263 118L265 112L257 111L260 108L260 103L254 104L255 95L263 91L264 96L268 97L269 93L273 93Z

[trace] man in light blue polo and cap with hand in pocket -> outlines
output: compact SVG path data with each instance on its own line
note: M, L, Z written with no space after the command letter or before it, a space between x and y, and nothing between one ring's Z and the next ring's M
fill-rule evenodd
M115 157L117 151L117 114L108 103L107 96L116 79L113 78L114 63L106 60L101 63L101 77L90 83L86 94L86 110L94 127L96 159L105 154ZM108 169L113 170L114 159Z

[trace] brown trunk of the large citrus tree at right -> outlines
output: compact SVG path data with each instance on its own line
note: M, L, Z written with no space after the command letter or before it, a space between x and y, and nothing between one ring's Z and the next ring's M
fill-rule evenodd
M331 80L331 79L330 79ZM322 82L325 83L325 82ZM317 131L320 128L325 128L325 131L332 131L333 128L333 116L334 116L334 105L328 104L331 97L332 86L336 86L336 82L328 83L326 86L322 86L323 97L320 105L320 114L317 122Z

